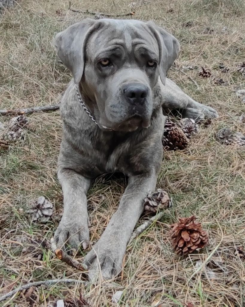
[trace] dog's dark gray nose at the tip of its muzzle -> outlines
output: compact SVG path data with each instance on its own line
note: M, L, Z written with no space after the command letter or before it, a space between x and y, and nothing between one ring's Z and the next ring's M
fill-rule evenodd
M130 99L130 102L132 103L143 103L145 100L145 97L148 94L148 89L144 84L141 83L130 83L127 84L123 92L125 93L125 96Z

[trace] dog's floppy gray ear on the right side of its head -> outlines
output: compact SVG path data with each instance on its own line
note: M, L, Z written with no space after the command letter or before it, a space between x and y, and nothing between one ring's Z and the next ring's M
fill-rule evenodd
M174 63L180 49L178 40L171 34L169 34L163 28L160 28L150 21L147 23L156 37L159 47L159 66L160 66L160 78L165 85L166 74L169 68Z

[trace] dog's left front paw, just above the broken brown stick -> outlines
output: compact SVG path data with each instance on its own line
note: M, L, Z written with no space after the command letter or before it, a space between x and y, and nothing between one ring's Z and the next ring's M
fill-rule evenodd
M89 245L89 227L84 225L81 220L62 217L54 235L55 243L58 248L77 249L82 246L86 249Z

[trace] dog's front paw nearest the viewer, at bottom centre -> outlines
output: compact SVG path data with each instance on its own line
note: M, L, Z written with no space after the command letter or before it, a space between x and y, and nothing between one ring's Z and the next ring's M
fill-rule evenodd
M111 279L122 270L124 251L115 246L111 249L108 245L99 243L100 241L95 244L83 262L88 266L88 278L91 281L96 281L97 278Z

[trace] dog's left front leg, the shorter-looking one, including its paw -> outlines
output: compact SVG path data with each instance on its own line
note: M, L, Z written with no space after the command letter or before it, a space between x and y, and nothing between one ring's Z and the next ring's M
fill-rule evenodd
M89 242L88 210L86 193L91 180L71 169L59 169L58 179L64 194L64 213L55 231L55 242L59 248L65 244L84 249Z

